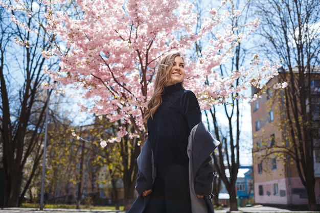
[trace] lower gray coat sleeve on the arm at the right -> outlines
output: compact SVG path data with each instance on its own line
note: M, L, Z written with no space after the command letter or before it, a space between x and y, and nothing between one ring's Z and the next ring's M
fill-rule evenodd
M195 192L197 195L210 195L212 193L214 174L210 164L211 160L211 157L208 157L195 176Z

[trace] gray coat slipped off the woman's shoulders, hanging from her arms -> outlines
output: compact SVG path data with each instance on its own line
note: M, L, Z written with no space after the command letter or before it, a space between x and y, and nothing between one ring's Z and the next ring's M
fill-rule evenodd
M219 144L220 142L214 139L202 122L194 126L190 132L187 153L189 157L189 185L193 213L207 213L205 202L203 199L196 197L196 192L200 195L210 195L212 192L213 170L208 158ZM136 162L138 163L139 172L135 190L138 192L139 197L132 203L127 213L142 213L151 196L151 194L146 197L141 196L145 190L152 189L156 174L151 144L148 139ZM206 177L207 181L201 181Z

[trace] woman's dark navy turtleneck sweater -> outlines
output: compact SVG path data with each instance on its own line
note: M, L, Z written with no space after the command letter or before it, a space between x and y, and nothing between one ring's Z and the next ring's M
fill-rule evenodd
M153 119L148 119L154 164L188 164L188 137L201 122L198 100L178 83L165 87L162 102Z

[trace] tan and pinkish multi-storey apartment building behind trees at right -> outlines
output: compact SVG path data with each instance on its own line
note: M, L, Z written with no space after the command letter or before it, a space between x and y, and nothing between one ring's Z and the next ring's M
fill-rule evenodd
M281 75L281 74L280 74ZM310 120L320 122L320 75L311 77L311 97L308 99ZM279 77L267 82L277 83ZM256 93L257 90L253 90ZM285 97L281 90L267 89L261 99L251 104L253 126L253 178L255 202L269 205L307 205L308 196L295 162L289 155L277 152L288 147L288 124L285 123ZM314 134L318 138L320 130ZM320 204L320 141L314 138L314 176L316 203ZM267 157L265 157L267 156Z

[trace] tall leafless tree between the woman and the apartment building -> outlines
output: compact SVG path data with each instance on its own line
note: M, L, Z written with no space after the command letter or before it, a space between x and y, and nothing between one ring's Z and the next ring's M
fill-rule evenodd
M241 34L246 34L246 29L241 28L248 22L249 18L252 17L250 14L251 9L251 1L230 1L230 5L228 11L231 12L231 16L229 16L226 20L230 24L231 29L238 29L237 31L233 31L237 37L241 37ZM200 7L203 5L200 5ZM201 19L203 19L201 11L203 9L199 9L199 25L201 26ZM237 16L236 13L241 11L241 16ZM219 33L219 28L216 31L213 31L209 36L211 38L214 35ZM232 51L230 60L226 61L224 64L221 64L215 70L222 78L232 75L233 70L240 70L241 67L249 66L250 53L248 43L249 38L243 39L238 45L235 45ZM195 53L196 57L202 57L203 50L203 42L201 40L195 42ZM237 79L232 87L239 87L241 85L241 80ZM209 130L211 130L215 137L221 141L221 145L217 148L217 151L213 152L212 156L214 158L214 170L217 172L217 178L222 181L226 187L227 192L230 195L230 210L238 210L237 203L237 192L236 192L236 181L238 176L238 169L240 165L240 155L244 153L246 141L245 131L248 132L246 126L243 126L242 115L244 112L243 101L241 101L238 97L241 96L241 91L235 91L228 93L228 98L225 103L222 105L214 105L211 109L205 111L205 115L207 116L207 123L209 126ZM244 131L244 132L242 132ZM242 156L245 157L245 156ZM228 170L226 175L225 171ZM230 175L230 176L229 176ZM215 183L218 183L215 181ZM215 196L218 197L218 192L216 191Z

